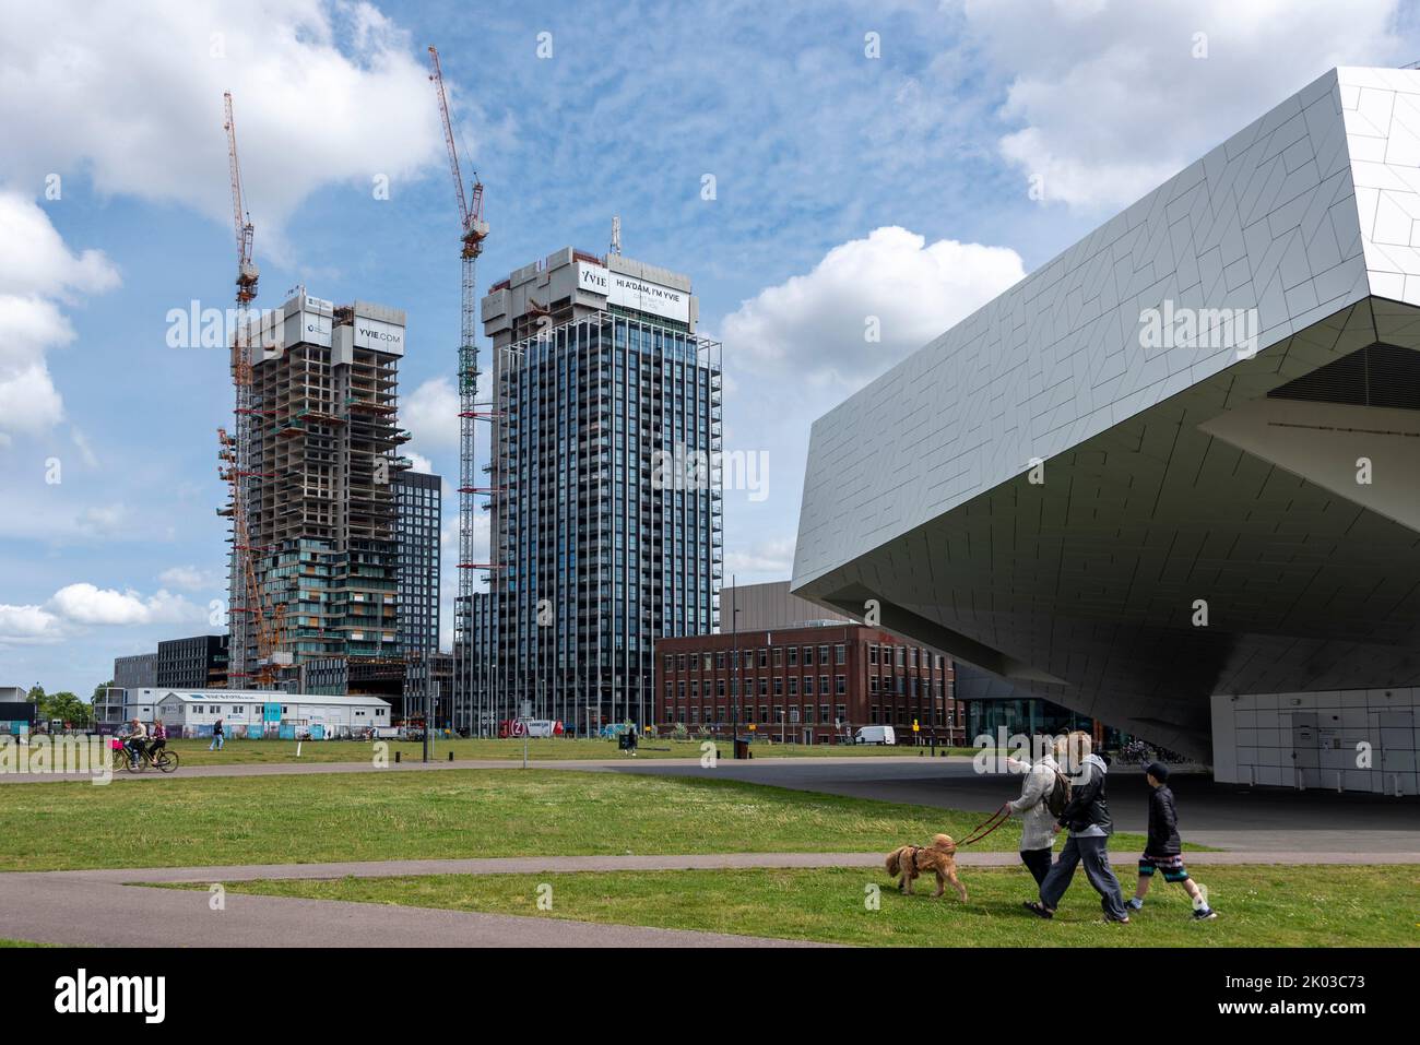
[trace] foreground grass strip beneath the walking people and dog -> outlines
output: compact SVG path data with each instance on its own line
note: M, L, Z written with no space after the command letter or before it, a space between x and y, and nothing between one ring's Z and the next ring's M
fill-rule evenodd
M1120 868L1123 870L1123 866ZM1076 875L1052 921L1021 907L1035 896L1024 869L966 868L967 903L895 892L883 872L686 870L568 875L436 875L346 877L334 882L236 882L227 889L268 896L447 907L665 929L859 946L937 947L1416 947L1416 866L1218 866L1198 882L1218 919L1191 921L1179 886L1160 882L1130 924L1100 919L1099 902ZM1133 876L1123 876L1127 892ZM551 885L552 910L538 910ZM880 889L869 910L866 889ZM204 887L204 886L202 886Z

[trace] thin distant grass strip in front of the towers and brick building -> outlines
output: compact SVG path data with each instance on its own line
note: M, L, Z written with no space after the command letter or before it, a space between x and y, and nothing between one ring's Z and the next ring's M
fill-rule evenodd
M423 757L423 744L388 741L389 758L399 751L406 760ZM294 740L229 740L222 751L209 751L207 740L170 740L168 745L179 754L183 765L250 765L271 762L368 762L373 754L372 745L358 741L328 740L305 741L300 758ZM699 740L643 740L638 758L700 758ZM720 757L728 760L730 741L719 741ZM456 760L466 758L523 758L521 740L436 740L435 758L443 761L453 751ZM875 744L770 744L763 740L753 744L755 758L917 758L929 748L907 745L878 747ZM941 748L939 748L941 751ZM974 755L976 748L953 748L951 754ZM581 758L628 758L612 740L528 740L528 758L534 760L581 760ZM922 754L922 757L926 757Z

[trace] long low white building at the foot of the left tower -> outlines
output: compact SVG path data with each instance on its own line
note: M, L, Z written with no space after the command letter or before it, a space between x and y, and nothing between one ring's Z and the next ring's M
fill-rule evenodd
M328 740L389 726L389 701L261 690L129 690L125 720L162 718L172 737L210 737L222 720L230 737Z

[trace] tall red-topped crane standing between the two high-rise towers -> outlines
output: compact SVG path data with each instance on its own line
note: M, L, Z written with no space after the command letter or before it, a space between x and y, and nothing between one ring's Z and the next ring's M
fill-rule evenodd
M459 602L454 608L454 687L469 699L473 691L473 582L476 569L488 564L474 562L473 517L474 497L490 493L474 486L474 429L480 417L491 416L479 410L479 345L474 337L474 274L488 223L483 220L483 182L477 172L473 189L466 197L463 173L459 170L459 148L454 145L453 121L449 118L449 95L444 91L439 51L429 48L433 71L429 80L439 98L439 118L443 121L444 145L449 146L449 170L453 173L454 197L459 200L459 240L463 258L463 304L459 318ZM483 716L479 716L483 730Z

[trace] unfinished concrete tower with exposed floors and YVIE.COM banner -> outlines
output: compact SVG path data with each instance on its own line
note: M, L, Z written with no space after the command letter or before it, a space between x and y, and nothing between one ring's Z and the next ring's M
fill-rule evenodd
M231 611L266 620L274 635L266 656L285 683L300 684L311 660L393 657L393 480L409 467L398 454L409 439L398 426L405 312L334 305L302 290L254 317L243 344L251 420L240 488L254 584L231 578ZM258 629L239 630L248 636L244 663L257 666Z

